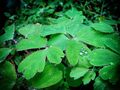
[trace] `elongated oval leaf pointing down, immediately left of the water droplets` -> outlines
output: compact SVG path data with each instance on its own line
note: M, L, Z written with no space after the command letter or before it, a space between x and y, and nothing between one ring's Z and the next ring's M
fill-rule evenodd
M74 66L78 63L80 53L79 42L75 40L69 40L66 48L66 57L70 65Z

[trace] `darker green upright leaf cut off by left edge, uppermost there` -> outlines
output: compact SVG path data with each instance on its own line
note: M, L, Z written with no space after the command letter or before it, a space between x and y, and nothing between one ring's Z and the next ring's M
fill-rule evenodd
M8 41L8 40L12 40L14 37L14 32L15 32L14 24L7 26L5 28L5 33L0 36L0 43Z

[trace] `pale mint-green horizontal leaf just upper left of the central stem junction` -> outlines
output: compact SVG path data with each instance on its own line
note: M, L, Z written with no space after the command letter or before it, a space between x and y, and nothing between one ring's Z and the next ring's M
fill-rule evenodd
M59 24L53 24L53 25L44 25L42 26L41 36L48 36L52 34L61 34L66 33L65 27Z

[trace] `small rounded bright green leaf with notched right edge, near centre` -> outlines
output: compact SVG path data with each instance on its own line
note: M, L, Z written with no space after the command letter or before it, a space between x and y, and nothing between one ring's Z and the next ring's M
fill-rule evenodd
M47 50L47 58L49 62L59 64L62 61L62 57L64 57L64 53L60 48L57 47L49 47Z

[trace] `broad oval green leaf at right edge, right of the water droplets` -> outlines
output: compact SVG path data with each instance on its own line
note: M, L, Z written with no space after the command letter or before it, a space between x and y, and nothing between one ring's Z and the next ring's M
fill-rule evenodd
M94 66L104 66L118 63L120 56L108 49L96 49L91 52L89 59Z

